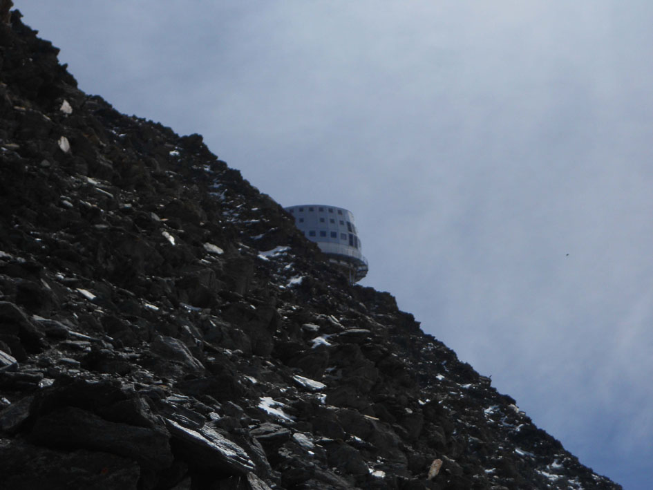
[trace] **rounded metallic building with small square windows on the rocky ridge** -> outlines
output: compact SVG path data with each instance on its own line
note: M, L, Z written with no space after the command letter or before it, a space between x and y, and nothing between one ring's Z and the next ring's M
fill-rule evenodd
M368 261L361 251L361 239L348 209L320 204L285 208L295 225L310 241L317 243L329 260L339 265L355 283L368 273Z

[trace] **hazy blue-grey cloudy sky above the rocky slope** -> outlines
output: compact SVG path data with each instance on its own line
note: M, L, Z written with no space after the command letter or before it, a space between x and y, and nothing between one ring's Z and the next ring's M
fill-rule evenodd
M653 3L15 1L88 93L201 133L581 462L653 480Z

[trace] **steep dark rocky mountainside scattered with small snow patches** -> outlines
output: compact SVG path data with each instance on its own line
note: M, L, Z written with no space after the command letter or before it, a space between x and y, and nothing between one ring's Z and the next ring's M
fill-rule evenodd
M199 135L79 91L9 4L0 487L620 488Z

